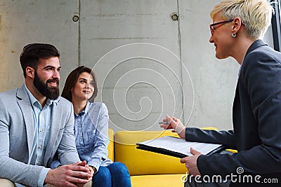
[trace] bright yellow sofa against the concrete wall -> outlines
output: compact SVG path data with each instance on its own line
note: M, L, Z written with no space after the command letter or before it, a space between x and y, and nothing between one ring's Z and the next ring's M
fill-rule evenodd
M183 186L181 177L188 171L179 158L152 153L136 148L136 143L163 136L178 135L166 131L119 131L109 130L109 158L128 167L133 187Z

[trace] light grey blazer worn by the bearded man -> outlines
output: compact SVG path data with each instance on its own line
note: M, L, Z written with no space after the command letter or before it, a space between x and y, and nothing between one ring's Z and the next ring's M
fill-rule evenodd
M55 153L63 165L79 161L73 132L73 106L63 97L51 105L50 137L44 155L49 167ZM24 85L0 93L0 178L26 186L37 186L43 166L30 165L34 137L30 99Z

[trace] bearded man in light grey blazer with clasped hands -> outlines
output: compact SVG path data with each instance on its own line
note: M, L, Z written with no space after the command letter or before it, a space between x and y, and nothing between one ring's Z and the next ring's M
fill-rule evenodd
M91 181L89 166L75 147L72 104L59 97L59 57L50 44L25 46L20 55L24 85L0 93L0 186L83 186ZM50 169L55 156L63 166Z

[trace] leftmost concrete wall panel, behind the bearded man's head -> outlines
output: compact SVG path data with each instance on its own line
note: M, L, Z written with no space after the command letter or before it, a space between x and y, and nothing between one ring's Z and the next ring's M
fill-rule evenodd
M60 88L78 62L79 3L75 0L0 1L0 91L22 85L20 53L28 43L51 43L60 50Z

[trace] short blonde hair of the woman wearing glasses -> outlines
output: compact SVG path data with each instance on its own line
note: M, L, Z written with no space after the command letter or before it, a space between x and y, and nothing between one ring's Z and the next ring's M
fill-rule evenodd
M267 0L225 0L214 7L210 16L212 20L216 14L226 20L240 18L249 38L256 40L266 33L272 13L273 6Z

